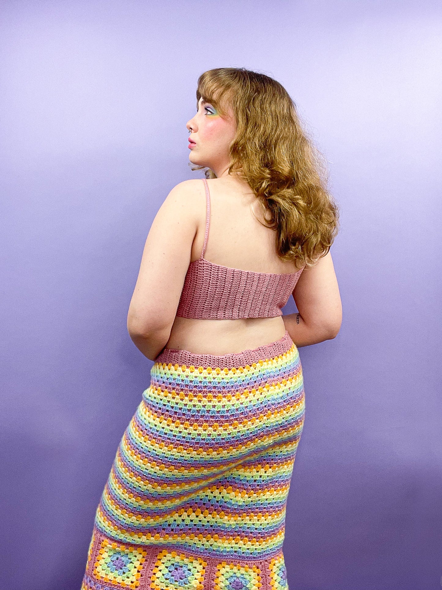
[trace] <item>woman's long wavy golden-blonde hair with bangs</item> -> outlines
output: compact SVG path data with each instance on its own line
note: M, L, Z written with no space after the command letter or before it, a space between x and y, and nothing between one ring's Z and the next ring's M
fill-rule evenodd
M273 78L245 68L215 68L198 79L200 98L220 116L232 107L237 122L229 174L240 175L276 230L276 252L296 266L312 266L338 232L338 207L327 190L324 158L302 129L296 105ZM198 107L197 107L198 108ZM212 170L206 178L216 178Z

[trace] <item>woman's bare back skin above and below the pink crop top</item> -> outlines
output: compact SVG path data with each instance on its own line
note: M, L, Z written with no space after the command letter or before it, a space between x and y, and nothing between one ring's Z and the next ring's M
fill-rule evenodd
M257 273L290 274L299 270L294 263L282 261L276 254L275 230L258 221L264 221L264 211L245 182L227 176L211 179L208 183L211 204L206 260ZM204 242L206 207L203 186L200 190L200 199L196 199L198 223L190 262L200 257ZM285 324L281 316L233 320L176 316L166 348L224 355L258 348L281 339L284 334Z

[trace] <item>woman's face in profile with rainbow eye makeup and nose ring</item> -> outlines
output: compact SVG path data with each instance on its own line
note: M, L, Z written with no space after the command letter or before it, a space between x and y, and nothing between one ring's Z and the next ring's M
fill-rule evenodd
M207 166L216 174L229 167L229 147L236 133L236 121L231 108L221 117L212 104L200 98L198 111L186 127L190 131L190 162Z

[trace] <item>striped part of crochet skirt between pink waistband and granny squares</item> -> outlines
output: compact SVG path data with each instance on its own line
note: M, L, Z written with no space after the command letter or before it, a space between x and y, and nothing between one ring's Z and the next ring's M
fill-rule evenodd
M119 542L200 555L275 555L304 411L295 345L239 368L154 363L97 529Z

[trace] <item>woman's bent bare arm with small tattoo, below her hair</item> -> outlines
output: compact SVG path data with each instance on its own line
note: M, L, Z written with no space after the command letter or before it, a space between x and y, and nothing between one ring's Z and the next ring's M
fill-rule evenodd
M342 304L331 254L304 268L293 291L299 313L282 316L298 348L331 340L342 322Z

